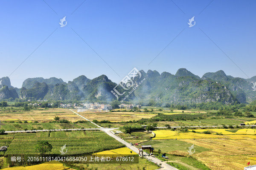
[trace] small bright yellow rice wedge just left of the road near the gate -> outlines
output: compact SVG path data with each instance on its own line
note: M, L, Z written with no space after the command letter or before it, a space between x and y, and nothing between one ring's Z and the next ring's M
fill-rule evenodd
M102 151L102 152L98 152L98 153L94 153L93 155L100 155L100 156L105 156L105 155L108 155L112 158L116 158L116 157L119 157L119 156L128 156L128 155L137 155L137 153L135 153L134 151L130 150L128 147L121 147L121 148L118 148L118 149L112 149L112 150L105 150L105 151Z

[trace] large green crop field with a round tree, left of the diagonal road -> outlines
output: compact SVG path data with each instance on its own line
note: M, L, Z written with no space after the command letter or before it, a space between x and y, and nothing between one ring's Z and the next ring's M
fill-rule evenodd
M104 150L116 149L124 145L101 131L54 131L40 133L15 133L0 135L1 145L8 146L3 154L35 154L37 141L52 144L51 154L59 154L60 148L66 144L71 155L91 154Z

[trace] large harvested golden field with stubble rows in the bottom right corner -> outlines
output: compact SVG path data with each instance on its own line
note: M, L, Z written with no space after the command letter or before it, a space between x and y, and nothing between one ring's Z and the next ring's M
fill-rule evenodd
M256 157L255 139L243 138L240 140L231 140L230 138L213 138L196 140L182 139L181 141L211 149L209 151L195 153L192 157L202 161L212 170L242 170L247 166L247 162L249 161L251 164L256 164L256 159L254 159Z

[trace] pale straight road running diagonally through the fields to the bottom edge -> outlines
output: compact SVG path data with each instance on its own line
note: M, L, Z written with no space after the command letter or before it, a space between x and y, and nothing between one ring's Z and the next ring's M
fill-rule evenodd
M72 110L70 110L72 111ZM72 111L73 113L76 113L74 111ZM84 118L83 116L79 115L78 113L76 113L78 116ZM91 122L90 120L84 118L85 120ZM93 122L91 122L93 123ZM95 123L93 123L94 125L96 125ZM97 125L98 127L100 127L99 125ZM139 153L139 150L137 147L134 147L133 145L129 144L128 142L125 142L123 139L119 138L118 136L114 135L111 130L113 130L114 128L99 128L99 130L102 130L103 132L107 133L109 136L113 137L114 139L116 139L117 141L121 142L122 144L125 144L126 147L128 147L129 149L133 150L135 153ZM178 170L175 167L172 167L169 164L166 164L165 162L161 161L160 159L154 158L152 156L149 156L148 153L143 152L143 156L148 159L148 161L154 162L156 164L161 164L161 168L159 170Z

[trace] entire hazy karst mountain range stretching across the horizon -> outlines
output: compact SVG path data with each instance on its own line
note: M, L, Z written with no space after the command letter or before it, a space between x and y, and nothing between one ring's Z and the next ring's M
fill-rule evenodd
M29 78L23 82L22 88L13 88L10 79L0 79L0 99L52 99L52 100L83 100L89 102L111 102L117 99L111 91L116 90L123 95L118 100L126 102L148 103L205 103L221 102L232 104L245 103L256 99L252 81L256 77L243 79L227 76L224 71L206 73L202 78L185 68L180 68L175 75L168 72L141 70L141 77L133 80L135 90L122 87L101 75L88 79L81 75L73 81L63 82L62 79L51 77ZM130 93L129 93L130 92Z

